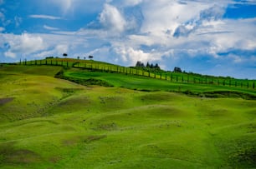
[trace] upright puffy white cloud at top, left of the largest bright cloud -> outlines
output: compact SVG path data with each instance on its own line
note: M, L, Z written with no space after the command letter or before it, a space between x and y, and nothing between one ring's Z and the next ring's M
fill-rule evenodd
M99 19L100 23L112 33L119 33L125 30L125 18L116 7L111 6L110 4L105 4Z

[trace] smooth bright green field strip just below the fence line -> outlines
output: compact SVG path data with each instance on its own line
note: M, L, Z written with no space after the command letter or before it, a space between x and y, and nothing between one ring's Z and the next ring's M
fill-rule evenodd
M120 76L121 75L121 76ZM90 72L87 70L70 69L64 72L65 77L79 79L98 79L109 83L115 87L125 87L135 90L145 91L174 91L174 92L214 92L214 91L233 91L243 92L256 96L256 90L247 87L229 87L210 84L192 84L181 82L170 82L149 77L125 75L120 73Z

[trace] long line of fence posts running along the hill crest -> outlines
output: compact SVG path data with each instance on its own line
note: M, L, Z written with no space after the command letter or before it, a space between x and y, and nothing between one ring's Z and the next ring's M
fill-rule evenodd
M191 84L209 84L218 85L226 87L247 87L255 89L255 82L251 80L239 80L228 77L211 77L211 76L200 76L189 73L177 73L177 72L152 72L141 69L136 69L132 67L120 67L116 65L111 65L107 63L100 62L70 62L67 59L45 59L45 60L34 60L34 61L24 61L20 62L22 65L50 65L50 66L62 66L62 67L77 67L84 68L91 71L98 72L117 72L125 73L126 75L137 75L141 77L151 77L161 80L166 80L170 82L182 82Z

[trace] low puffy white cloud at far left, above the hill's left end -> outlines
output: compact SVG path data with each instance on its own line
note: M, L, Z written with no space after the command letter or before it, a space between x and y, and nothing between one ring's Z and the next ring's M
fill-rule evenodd
M6 57L16 57L17 54L29 55L47 48L42 37L28 33L18 36L11 34L5 39L8 42L8 51L4 53Z

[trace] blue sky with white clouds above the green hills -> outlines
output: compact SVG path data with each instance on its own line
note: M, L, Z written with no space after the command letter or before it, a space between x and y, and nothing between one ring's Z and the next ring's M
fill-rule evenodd
M0 62L64 52L256 79L256 1L0 0Z

